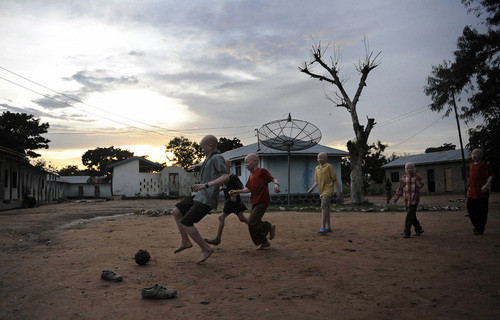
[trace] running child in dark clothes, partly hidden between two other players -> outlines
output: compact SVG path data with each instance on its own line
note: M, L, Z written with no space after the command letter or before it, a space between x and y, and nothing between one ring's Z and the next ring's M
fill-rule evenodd
M205 241L209 244L219 245L222 237L222 230L224 230L224 221L227 216L231 213L234 213L241 222L246 223L248 225L248 220L243 214L243 212L247 209L247 207L241 202L241 197L239 194L229 195L231 190L241 190L243 189L243 183L241 180L234 174L231 173L231 161L226 159L226 168L229 173L229 180L222 185L222 189L224 190L224 198L226 202L224 202L224 209L222 210L221 215L219 216L219 228L217 229L217 236L213 239L205 239Z

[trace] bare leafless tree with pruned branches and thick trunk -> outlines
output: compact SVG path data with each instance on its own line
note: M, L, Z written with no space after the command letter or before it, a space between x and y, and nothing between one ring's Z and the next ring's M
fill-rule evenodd
M351 99L347 94L344 84L346 79L341 79L339 72L342 70L340 64L340 49L335 48L334 56L330 56L330 64L325 62L324 54L328 49L321 47L321 42L314 44L310 49L311 60L310 62L304 62L302 67L299 67L301 72L308 74L311 78L318 79L319 81L326 81L334 85L336 89L332 91L332 94L325 94L326 98L332 101L337 107L346 108L351 114L352 126L356 139L347 142L347 149L349 150L350 164L351 164L351 203L362 203L364 202L363 194L363 159L368 151L368 136L375 125L374 118L367 117L366 127L359 123L358 113L356 111L356 106L359 102L359 97L363 88L366 87L366 79L370 71L375 69L380 65L380 54L381 52L373 55L370 52L368 41L366 37L363 38L363 43L365 45L366 56L364 60L359 60L358 64L355 65L356 70L360 73L361 78L359 80L358 88L354 94L354 98ZM314 72L312 69L315 66L321 66L325 75Z

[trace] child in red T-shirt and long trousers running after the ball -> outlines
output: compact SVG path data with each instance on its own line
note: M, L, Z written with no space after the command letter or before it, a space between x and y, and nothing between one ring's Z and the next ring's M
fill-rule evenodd
M239 193L251 193L250 200L252 202L252 210L248 217L248 231L252 237L252 241L256 246L260 246L259 250L269 247L269 240L273 240L276 235L276 226L267 221L262 221L262 217L266 213L271 195L267 185L269 182L274 183L274 192L280 192L278 180L274 178L269 171L264 168L259 168L259 157L255 153L251 153L245 157L245 166L250 171L246 188L243 190L231 190L230 195ZM269 235L269 240L267 239Z

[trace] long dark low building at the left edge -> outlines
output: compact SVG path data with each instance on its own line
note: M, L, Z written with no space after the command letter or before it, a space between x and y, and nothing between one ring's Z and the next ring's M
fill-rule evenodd
M0 147L0 210L49 203L60 197L57 174L32 166L22 153Z

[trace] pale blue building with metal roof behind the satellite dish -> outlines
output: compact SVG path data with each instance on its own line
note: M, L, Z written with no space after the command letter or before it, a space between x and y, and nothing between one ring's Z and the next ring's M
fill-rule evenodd
M333 170L338 177L339 186L342 189L340 163L342 157L349 156L346 151L317 144L306 150L291 152L290 185L288 185L288 153L286 151L274 150L262 144L254 143L224 152L222 156L231 160L231 171L245 185L250 176L250 172L245 168L245 157L250 153L256 153L259 156L259 166L267 169L280 183L281 193L279 196L274 194L272 184L269 185L269 192L274 203L285 203L288 190L290 190L290 203L301 204L317 201L317 192L315 192L315 198L314 196L308 196L307 191L314 184L314 171L318 165L317 156L320 152L327 154L328 163L333 166Z

